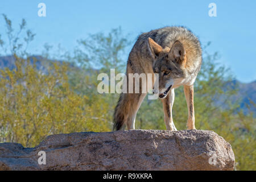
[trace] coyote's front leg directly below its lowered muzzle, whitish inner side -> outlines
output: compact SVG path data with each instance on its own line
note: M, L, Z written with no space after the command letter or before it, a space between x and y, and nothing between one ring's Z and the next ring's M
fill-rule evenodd
M171 131L177 131L172 120L172 105L174 105L174 89L171 89L168 96L161 100L163 102L164 122L166 123L166 129Z

